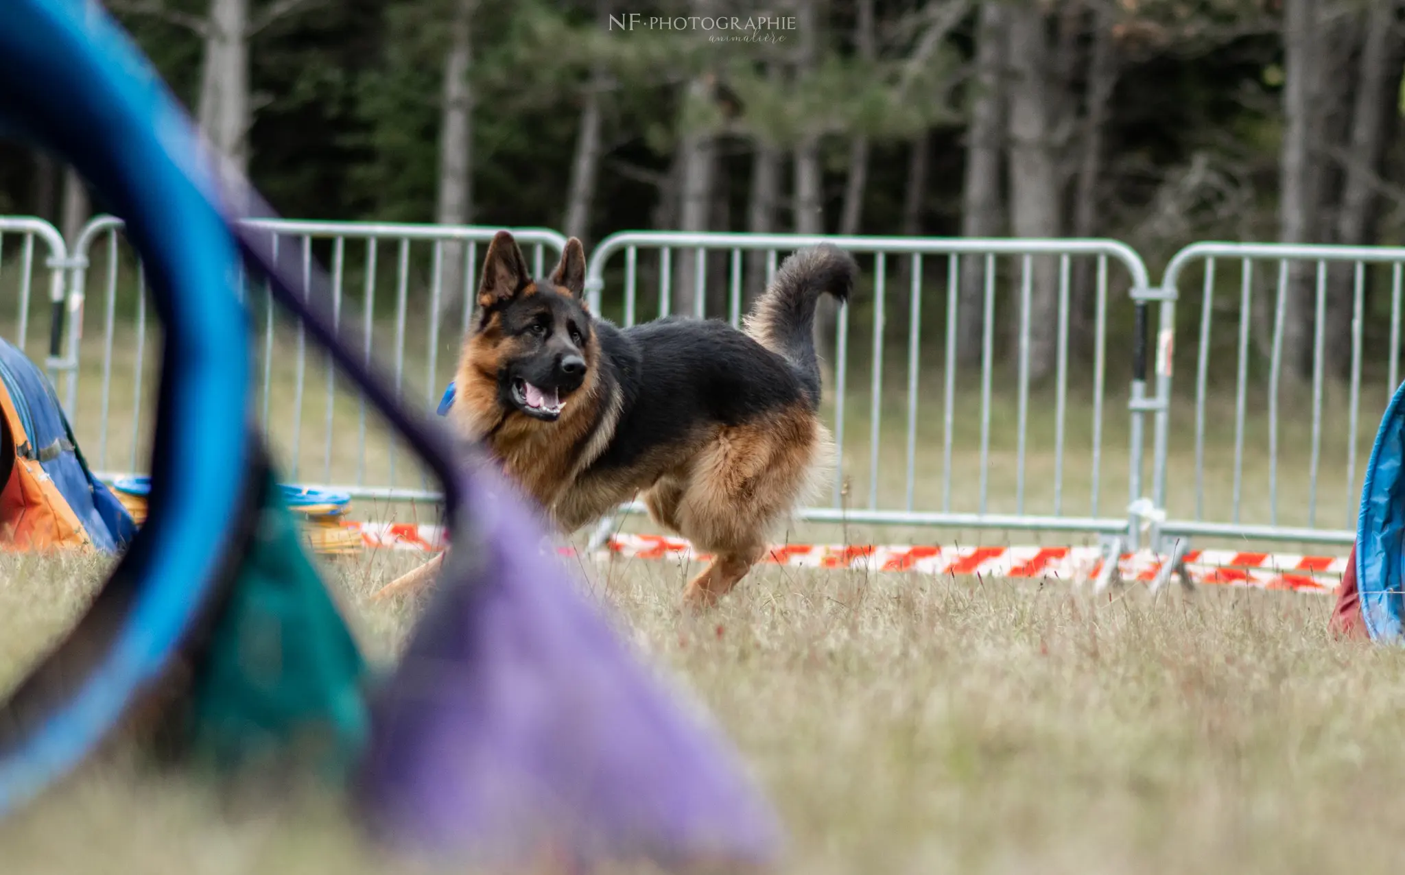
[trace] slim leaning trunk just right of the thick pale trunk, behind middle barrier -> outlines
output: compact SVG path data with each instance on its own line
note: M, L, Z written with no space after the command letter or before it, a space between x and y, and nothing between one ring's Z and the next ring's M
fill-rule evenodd
M1103 174L1103 126L1107 124L1109 104L1117 86L1117 49L1113 45L1113 20L1109 10L1099 6L1093 11L1093 56L1087 65L1087 84L1083 100L1082 154L1073 183L1073 236L1092 237L1099 233L1097 184ZM1090 350L1093 336L1093 261L1073 263L1073 288L1069 289L1071 347Z

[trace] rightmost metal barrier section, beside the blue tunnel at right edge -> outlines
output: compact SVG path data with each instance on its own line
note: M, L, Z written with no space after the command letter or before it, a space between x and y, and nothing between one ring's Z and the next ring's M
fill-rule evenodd
M1191 537L1352 544L1361 489L1357 462L1366 461L1380 416L1399 385L1405 249L1187 246L1166 267L1163 331L1175 326L1176 292L1184 287L1187 295L1193 294L1186 275L1197 268L1201 317L1196 337L1194 461L1190 472L1180 471L1180 494L1168 493L1165 466L1154 482L1151 499L1166 514L1156 525L1154 544L1173 553L1183 553ZM1378 275L1368 277L1371 272ZM1229 281L1228 295L1220 289L1224 279ZM1387 295L1388 308L1381 303ZM1229 308L1220 306L1224 298L1229 298ZM1374 319L1368 319L1368 305L1375 305ZM1222 310L1238 317L1229 350L1215 344L1214 329ZM1217 372L1211 365L1217 351L1218 358L1232 354L1235 399L1232 413L1218 417L1208 388L1218 374L1229 371L1231 362ZM1262 368L1264 358L1267 374L1256 375L1255 365ZM1381 360L1384 369L1377 364ZM1333 368L1345 378L1345 399L1343 381L1329 374ZM1170 399L1169 372L1165 382L1159 396ZM1253 435L1250 407L1259 402L1260 388L1266 434ZM1180 406L1180 399L1170 402L1169 419L1186 419L1177 416ZM1308 416L1302 416L1304 406ZM1207 433L1224 426L1227 417L1232 419L1234 455L1224 471L1215 463L1220 459L1207 458L1205 445ZM1159 421L1159 458L1169 452L1168 431L1169 420ZM1331 456L1345 476L1333 473L1329 483L1324 476ZM1253 480L1263 489L1250 494ZM1331 515L1324 504L1331 507Z

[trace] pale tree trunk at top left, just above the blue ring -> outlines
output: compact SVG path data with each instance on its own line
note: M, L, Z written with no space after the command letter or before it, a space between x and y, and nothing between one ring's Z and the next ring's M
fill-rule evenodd
M249 0L211 0L200 125L240 174L249 170Z

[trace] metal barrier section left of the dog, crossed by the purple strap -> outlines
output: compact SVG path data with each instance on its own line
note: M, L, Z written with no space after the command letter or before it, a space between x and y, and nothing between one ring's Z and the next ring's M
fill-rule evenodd
M325 264L332 277L337 320L341 320L344 306L360 308L360 324L348 327L360 329L367 360L377 355L388 361L402 392L407 389L406 379L413 381L409 376L412 371L423 374L424 383L420 389L424 400L430 406L437 403L457 365L458 338L466 330L472 312L471 282L476 277L479 244L492 240L497 229L285 219L250 221L249 225L273 235L275 247L298 246L308 270L313 258ZM96 375L100 379L98 430L90 435L93 442L86 445L90 447L90 459L98 476L105 479L139 469L138 459L149 440L145 428L150 417L143 416L143 404L150 392L145 386L155 378L156 364L156 357L148 355L150 338L145 275L135 254L121 244L121 229L122 222L112 216L90 222L74 242L69 279L70 309L77 315L74 323L79 326L90 274L96 272L94 263L103 263L98 291L103 296L103 355L101 372ZM514 235L538 271L549 267L548 258L555 263L565 247L565 237L552 230L514 229ZM322 253L316 251L319 247ZM393 256L382 257L382 250L392 247ZM420 250L419 258L414 257L416 249ZM426 249L427 253L423 251ZM382 295L378 301L378 289L386 275L392 278L393 296L386 301ZM412 288L427 291L427 312L409 312L410 298L422 296L412 295ZM400 476L396 476L396 456L403 452L398 452L396 442L382 431L368 427L365 400L337 388L330 362L320 354L309 357L302 327L289 329L275 319L274 309L268 306L267 289L259 284L251 288L246 284L244 294L251 317L263 322L263 330L256 331L259 337L254 350L257 360L261 360L259 413L264 428L278 444L280 455L288 459L287 476L295 482L309 479L333 485L362 499L436 499L436 492L424 489L423 473L417 468L409 478L417 482L417 487L403 482L403 465ZM118 324L117 313L121 306L132 310L129 327ZM379 313L385 309L392 313ZM450 313L450 309L455 312ZM132 357L129 371L122 368L125 372L119 372L115 361L119 330L133 334L128 343L121 344L122 354ZM275 343L275 337L282 333L288 336ZM74 350L81 347L80 337L79 330ZM444 355L440 354L441 347L447 347L443 350ZM73 355L72 372L76 374L80 365L76 351ZM114 399L125 383L131 385L131 421L118 430L114 427ZM322 404L313 397L319 389ZM70 392L67 402L70 412L76 403L72 395ZM322 419L320 445L308 441L312 426L303 428L309 409L312 416ZM280 416L278 410L287 413ZM122 410L124 416L128 410ZM124 444L121 449L125 452L115 452L117 442ZM114 455L124 455L125 459L112 459ZM111 465L112 461L118 468ZM309 469L315 473L305 478Z

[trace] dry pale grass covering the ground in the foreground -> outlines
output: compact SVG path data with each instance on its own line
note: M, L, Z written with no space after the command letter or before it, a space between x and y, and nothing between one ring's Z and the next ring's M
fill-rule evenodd
M377 659L413 605L326 576ZM13 683L101 576L0 559ZM704 621L674 565L589 569L636 642L717 713L791 831L787 872L1388 872L1405 656L1340 643L1329 600L1064 583L754 573ZM0 824L6 871L396 872L333 801L232 798L118 751Z

